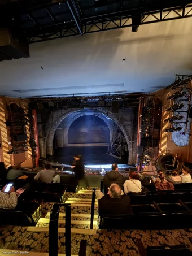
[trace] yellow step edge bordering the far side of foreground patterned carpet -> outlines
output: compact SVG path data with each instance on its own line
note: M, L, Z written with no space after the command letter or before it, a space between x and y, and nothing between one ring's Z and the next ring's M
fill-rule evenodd
M28 232L49 232L49 228L43 227L28 227ZM65 233L65 228L58 228L59 233ZM71 233L85 234L85 235L96 235L96 229L84 229L84 228L71 228Z

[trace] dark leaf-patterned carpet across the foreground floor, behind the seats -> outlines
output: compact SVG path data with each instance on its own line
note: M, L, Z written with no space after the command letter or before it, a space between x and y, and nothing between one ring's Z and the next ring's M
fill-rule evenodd
M26 227L1 227L0 248L25 251L49 251L48 232L27 232ZM187 245L192 251L189 240L192 229L174 231L97 231L96 235L82 235L72 233L72 254L78 254L80 240L88 242L87 256L136 256L139 255L136 239L141 239L143 245ZM59 233L59 253L64 253L64 233Z

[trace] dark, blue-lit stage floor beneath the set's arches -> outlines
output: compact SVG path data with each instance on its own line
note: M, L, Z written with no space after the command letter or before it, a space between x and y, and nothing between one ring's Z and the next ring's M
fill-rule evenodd
M80 154L84 165L111 165L112 163L126 164L121 160L106 154L108 146L85 146L85 147L59 147L54 151L54 155L47 156L46 160L63 164L72 164L73 155Z

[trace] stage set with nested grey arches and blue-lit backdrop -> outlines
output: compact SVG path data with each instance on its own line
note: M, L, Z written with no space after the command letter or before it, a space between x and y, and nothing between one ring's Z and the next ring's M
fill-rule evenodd
M114 157L111 160L117 158L119 163L121 160L123 163L136 163L137 118L138 112L131 107L117 114L112 113L110 108L101 107L38 110L40 157L56 160L58 155L61 162L65 161L62 154L86 148L85 154L86 150L90 152L94 149L95 157L97 152L101 152L100 158L108 154ZM61 151L62 148L66 150Z

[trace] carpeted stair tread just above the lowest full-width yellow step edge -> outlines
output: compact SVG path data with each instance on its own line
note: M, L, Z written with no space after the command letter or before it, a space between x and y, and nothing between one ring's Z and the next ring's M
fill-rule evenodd
M36 224L36 227L49 227L49 221L50 219L46 218L40 218L38 220L38 223ZM59 220L58 221L59 227L64 228L66 224L66 220ZM77 227L74 227L77 225ZM90 228L90 220L71 220L71 227L72 228ZM97 221L93 222L94 229L97 229Z

